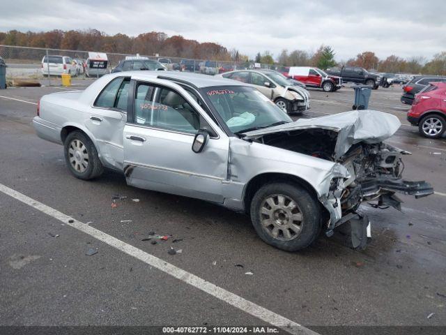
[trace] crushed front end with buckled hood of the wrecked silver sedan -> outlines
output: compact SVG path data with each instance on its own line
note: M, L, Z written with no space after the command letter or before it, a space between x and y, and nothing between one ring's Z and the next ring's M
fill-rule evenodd
M403 179L402 156L410 152L383 142L400 125L391 114L363 110L299 120L263 132L253 131L246 138L332 161L337 163L334 167L342 165L348 177L337 174L334 168L327 176L328 190L319 200L329 213L326 234L331 236L334 228L348 223L352 245L357 248L365 246L370 232L367 216L357 213L362 202L376 208L401 210L401 200L395 193L415 198L433 193L426 181Z

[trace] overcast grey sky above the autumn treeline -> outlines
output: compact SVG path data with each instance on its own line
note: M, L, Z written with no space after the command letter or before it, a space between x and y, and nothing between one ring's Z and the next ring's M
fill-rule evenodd
M426 57L446 50L445 0L41 0L1 1L0 31L95 28L130 36L180 34L235 47L254 57L269 50L314 52L331 45L337 60Z

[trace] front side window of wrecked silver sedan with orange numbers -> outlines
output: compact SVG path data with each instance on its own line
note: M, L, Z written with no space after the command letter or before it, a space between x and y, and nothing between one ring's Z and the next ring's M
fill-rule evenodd
M183 133L211 129L199 112L172 89L141 83L134 101L135 123Z

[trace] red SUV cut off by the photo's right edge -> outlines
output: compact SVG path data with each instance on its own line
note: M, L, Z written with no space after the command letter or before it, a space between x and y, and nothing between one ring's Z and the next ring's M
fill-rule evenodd
M438 138L446 129L446 83L429 84L415 96L407 119L413 126L418 126L421 135Z

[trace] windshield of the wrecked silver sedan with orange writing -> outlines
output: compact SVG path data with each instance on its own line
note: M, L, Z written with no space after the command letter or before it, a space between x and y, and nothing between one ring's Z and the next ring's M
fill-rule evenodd
M233 133L293 121L254 87L205 87L201 92Z

